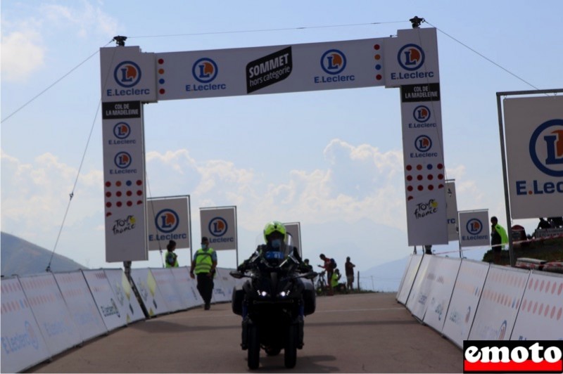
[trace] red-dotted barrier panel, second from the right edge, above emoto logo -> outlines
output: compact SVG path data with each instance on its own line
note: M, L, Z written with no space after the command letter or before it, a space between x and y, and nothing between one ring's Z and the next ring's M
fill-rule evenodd
M469 340L510 340L530 271L491 265Z

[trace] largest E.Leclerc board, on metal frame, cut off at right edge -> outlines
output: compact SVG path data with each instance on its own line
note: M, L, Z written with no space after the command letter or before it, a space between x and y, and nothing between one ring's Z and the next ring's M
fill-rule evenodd
M512 218L563 216L563 96L504 101Z

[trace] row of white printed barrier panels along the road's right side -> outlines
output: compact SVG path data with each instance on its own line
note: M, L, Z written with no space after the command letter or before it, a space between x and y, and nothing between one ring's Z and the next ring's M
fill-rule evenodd
M563 340L557 273L413 254L396 299L460 348L464 340Z

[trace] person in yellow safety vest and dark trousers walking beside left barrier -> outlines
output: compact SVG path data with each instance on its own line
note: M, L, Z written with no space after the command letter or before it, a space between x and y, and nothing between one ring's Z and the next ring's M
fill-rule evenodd
M209 240L205 236L201 238L201 249L194 254L191 260L189 276L198 280L199 295L203 299L204 309L211 307L211 297L213 296L213 276L217 267L217 252L209 247ZM194 275L195 273L195 275Z

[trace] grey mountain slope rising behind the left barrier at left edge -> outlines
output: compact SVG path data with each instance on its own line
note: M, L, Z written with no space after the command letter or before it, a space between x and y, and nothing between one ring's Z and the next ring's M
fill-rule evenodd
M1 254L1 274L2 276L27 276L30 274L44 273L51 251L39 247L8 233L1 233L0 238ZM53 273L61 271L76 271L78 269L88 269L68 257L61 254L54 254L51 260L51 271Z

